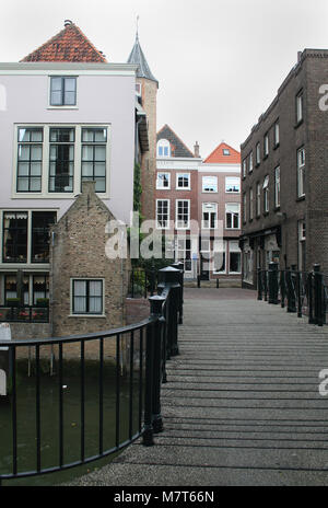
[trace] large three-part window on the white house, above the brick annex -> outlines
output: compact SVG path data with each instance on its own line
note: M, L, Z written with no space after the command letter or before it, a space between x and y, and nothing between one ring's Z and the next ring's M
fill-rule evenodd
M107 190L107 126L21 125L16 147L15 197L71 197L81 192L81 182L91 180L97 193Z

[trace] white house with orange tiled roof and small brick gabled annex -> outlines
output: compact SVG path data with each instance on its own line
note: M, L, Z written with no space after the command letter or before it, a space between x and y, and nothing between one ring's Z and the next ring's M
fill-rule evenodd
M125 322L126 266L105 256L105 227L130 223L134 154L148 150L136 71L107 62L70 21L22 61L0 64L0 301L24 308L13 336ZM49 323L30 323L47 300Z

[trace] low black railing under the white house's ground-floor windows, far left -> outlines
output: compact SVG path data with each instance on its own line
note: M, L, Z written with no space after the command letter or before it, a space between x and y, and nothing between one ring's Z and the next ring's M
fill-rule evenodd
M38 305L0 305L0 322L48 323L49 308Z

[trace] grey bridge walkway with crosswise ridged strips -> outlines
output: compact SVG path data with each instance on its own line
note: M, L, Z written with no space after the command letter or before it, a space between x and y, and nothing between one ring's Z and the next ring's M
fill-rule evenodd
M328 326L243 289L185 290L156 446L75 485L328 485Z

